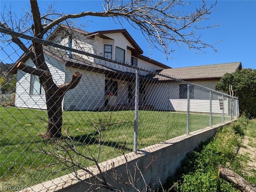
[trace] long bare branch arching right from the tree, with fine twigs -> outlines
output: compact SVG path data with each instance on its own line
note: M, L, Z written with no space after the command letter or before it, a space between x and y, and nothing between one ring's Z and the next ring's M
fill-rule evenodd
M173 52L172 44L185 46L194 52L203 51L204 48L214 48L214 44L207 44L200 40L198 30L213 28L212 26L199 26L203 20L208 20L208 16L214 11L216 2L206 4L206 0L202 0L202 6L196 8L190 14L184 14L182 11L176 11L178 6L189 5L179 0L134 0L126 2L121 0L104 0L104 12L81 12L78 14L66 14L52 20L42 30L45 34L53 26L70 18L80 18L86 16L111 17L117 19L120 24L124 21L140 30L145 38L150 42L151 46L157 49L160 45L168 55Z

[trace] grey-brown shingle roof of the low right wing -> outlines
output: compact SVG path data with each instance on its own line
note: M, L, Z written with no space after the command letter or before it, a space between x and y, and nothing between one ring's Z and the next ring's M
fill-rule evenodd
M213 65L162 69L159 73L186 81L207 79L213 80L220 79L225 73L234 73L236 69L242 69L242 64L240 61ZM156 75L154 78L158 78L160 81L167 80L167 78L158 75Z

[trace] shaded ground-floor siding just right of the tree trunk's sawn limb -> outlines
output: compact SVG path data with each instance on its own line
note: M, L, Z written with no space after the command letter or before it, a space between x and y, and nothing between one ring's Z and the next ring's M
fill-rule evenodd
M82 78L74 89L66 92L64 110L96 110L103 107L105 75L67 67L66 82L70 81L75 71L82 73Z

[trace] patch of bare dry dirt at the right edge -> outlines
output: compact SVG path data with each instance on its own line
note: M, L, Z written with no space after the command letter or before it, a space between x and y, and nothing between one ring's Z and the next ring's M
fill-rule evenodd
M256 170L256 138L245 136L242 147L238 150L238 154L245 155L247 162L243 164L244 173L254 175Z

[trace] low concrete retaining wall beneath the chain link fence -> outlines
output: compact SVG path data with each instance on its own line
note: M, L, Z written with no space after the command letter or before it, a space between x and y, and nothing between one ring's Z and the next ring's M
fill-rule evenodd
M190 133L190 135L176 137L165 141L164 143L148 146L138 150L138 154L129 153L125 155L126 158L124 158L124 156L119 156L106 162L102 162L100 167L102 171L104 171L106 180L113 186L117 186L116 181L113 181L109 177L113 174L113 166L118 174L122 174L122 178L119 180L119 182L122 182L122 179L128 178L126 174L126 160L132 175L134 174L134 165L137 164L138 168L143 171L144 168L150 164L143 174L144 180L149 185L159 186L159 180L164 184L168 176L171 176L176 172L177 168L180 167L181 160L185 157L187 152L193 151L201 141L206 141L210 137L213 137L218 127L228 123L196 131ZM154 158L156 159L152 161ZM96 166L89 167L89 170L94 174L98 174ZM71 173L54 180L29 187L26 189L26 192L85 192L88 189L90 189L89 191L93 190L93 186L86 184L86 182L94 182L93 178L90 178L90 175L82 170L79 170L77 174L80 176L79 180L76 178L74 173ZM142 188L143 180L140 179L137 185ZM125 189L125 186L123 187ZM103 190L102 188L100 191L107 190Z

